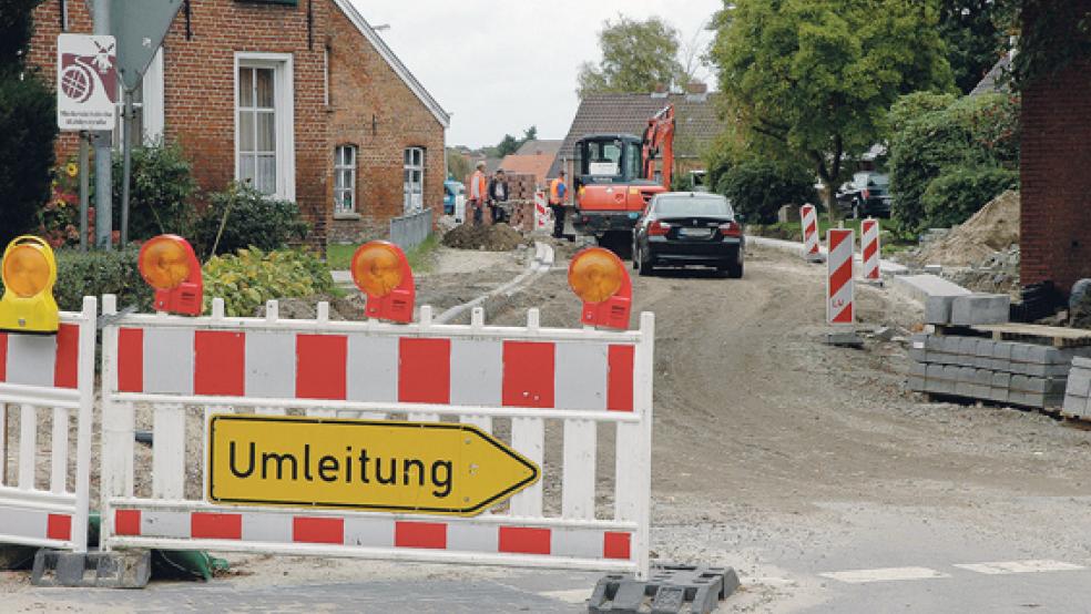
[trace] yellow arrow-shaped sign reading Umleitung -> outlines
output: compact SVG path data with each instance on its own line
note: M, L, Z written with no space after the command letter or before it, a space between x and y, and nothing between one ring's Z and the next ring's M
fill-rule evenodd
M472 424L213 416L208 500L476 515L538 481Z

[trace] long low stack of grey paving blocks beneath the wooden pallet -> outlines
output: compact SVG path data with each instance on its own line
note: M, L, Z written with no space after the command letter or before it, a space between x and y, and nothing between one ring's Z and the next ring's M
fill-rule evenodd
M916 392L1044 409L1062 403L1073 360L1091 348L914 335L909 356Z

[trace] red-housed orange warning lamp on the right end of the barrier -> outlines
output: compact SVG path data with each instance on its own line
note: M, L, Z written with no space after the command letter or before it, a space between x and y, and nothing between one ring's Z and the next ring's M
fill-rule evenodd
M633 308L633 285L629 272L613 252L589 247L572 258L569 285L583 300L581 321L626 330Z

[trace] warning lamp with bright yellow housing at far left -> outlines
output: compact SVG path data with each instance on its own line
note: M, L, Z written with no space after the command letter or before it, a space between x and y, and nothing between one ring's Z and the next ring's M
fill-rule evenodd
M61 315L53 298L57 260L49 244L40 237L17 237L3 250L0 274L0 331L55 335Z

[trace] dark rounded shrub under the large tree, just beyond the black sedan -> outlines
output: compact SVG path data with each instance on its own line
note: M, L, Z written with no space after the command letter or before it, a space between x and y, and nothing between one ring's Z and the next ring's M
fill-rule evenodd
M735 211L753 224L772 224L782 206L817 199L814 175L809 171L767 161L747 161L733 166L720 177L716 192L731 198Z

